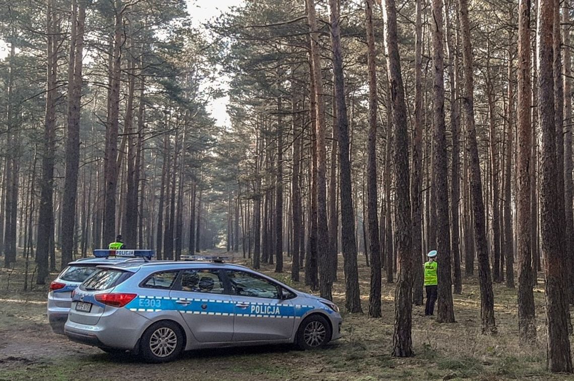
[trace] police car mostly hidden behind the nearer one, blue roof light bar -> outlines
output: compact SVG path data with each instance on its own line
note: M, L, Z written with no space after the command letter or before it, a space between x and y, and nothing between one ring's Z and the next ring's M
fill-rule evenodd
M64 324L72 304L72 291L88 276L94 274L97 265L120 263L123 261L149 260L151 250L96 250L94 257L82 258L68 263L60 275L50 283L48 293L48 321L52 330L64 334Z

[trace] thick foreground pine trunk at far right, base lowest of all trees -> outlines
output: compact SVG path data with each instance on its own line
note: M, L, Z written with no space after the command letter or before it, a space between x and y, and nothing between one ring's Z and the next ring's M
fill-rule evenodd
M538 120L541 128L540 221L544 254L546 364L552 372L572 372L568 338L568 301L564 291L565 256L557 210L556 124L554 120L554 0L538 3Z

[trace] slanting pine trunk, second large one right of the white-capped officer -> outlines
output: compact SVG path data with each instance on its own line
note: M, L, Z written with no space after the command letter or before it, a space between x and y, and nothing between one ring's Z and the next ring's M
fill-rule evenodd
M472 44L470 39L470 23L468 21L468 1L459 0L459 18L462 35L463 64L464 64L464 117L467 127L468 155L470 156L470 187L472 211L474 219L474 236L476 256L478 257L478 273L480 279L480 318L482 332L496 332L494 321L494 295L490 265L488 264L488 247L484 224L484 202L482 198L482 180L480 179L480 163L478 157L478 142L474 122L474 79L472 78Z

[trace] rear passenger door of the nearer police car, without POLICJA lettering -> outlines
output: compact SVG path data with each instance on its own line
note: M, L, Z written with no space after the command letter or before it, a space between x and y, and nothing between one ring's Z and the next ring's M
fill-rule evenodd
M181 271L169 296L197 341L231 341L234 305L220 270L189 268Z

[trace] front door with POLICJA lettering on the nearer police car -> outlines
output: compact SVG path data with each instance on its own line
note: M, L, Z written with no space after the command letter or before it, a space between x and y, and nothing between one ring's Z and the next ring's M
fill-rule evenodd
M234 301L233 341L272 341L291 337L293 303L282 298L282 287L247 271L226 270Z

